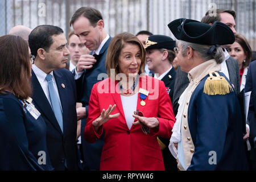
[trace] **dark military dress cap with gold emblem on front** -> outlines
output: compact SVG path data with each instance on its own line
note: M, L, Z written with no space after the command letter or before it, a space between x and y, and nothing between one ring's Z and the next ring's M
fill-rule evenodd
M166 35L151 35L146 41L146 50L148 49L170 49L174 50L176 41Z

